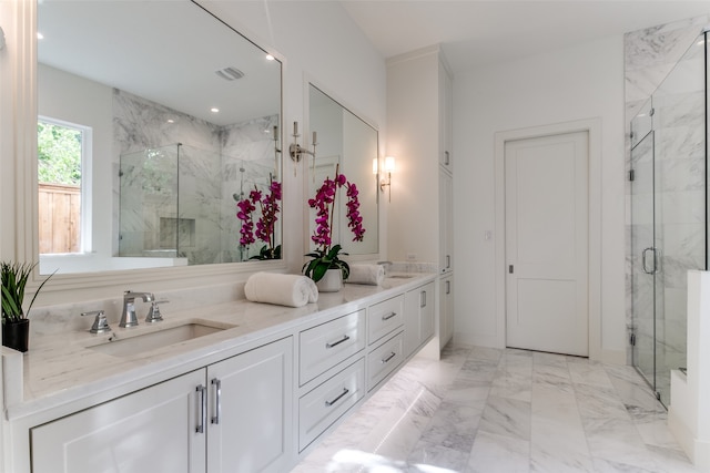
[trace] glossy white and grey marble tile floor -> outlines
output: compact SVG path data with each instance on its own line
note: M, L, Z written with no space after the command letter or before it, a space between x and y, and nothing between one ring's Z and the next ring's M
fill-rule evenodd
M294 472L696 470L631 367L447 346L415 358Z

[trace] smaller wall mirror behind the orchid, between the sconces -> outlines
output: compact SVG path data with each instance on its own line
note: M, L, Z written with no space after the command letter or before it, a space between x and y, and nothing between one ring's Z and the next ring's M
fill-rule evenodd
M318 142L316 160L311 166L310 184L306 186L308 195L314 196L326 177L333 178L338 166L339 173L355 183L359 191L359 213L365 235L363 241L353 241L345 217L346 199L341 198L333 218L333 241L339 243L349 255L374 257L379 251L377 130L313 84L308 86L308 107L310 126L317 132ZM310 235L315 230L314 217L315 210L311 209ZM307 244L313 246L310 238Z

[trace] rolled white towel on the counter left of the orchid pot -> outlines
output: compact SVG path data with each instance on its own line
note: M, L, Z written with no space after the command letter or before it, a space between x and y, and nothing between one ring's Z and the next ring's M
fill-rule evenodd
M318 288L313 279L298 275L256 273L244 285L246 298L254 302L302 307L318 300Z

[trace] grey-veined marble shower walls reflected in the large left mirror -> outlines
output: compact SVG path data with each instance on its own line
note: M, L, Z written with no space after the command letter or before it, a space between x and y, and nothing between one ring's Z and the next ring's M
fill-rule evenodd
M216 126L120 90L113 109L114 254L190 265L245 259L235 198L280 177L278 115Z

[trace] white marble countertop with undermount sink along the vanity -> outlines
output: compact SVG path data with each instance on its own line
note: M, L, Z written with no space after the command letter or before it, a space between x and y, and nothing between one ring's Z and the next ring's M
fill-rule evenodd
M200 369L239 353L240 348L255 348L260 340L287 336L295 328L327 318L333 312L358 310L434 280L435 277L434 274L393 275L382 286L346 284L341 291L322 292L317 302L301 308L247 300L191 310L170 307L171 310L162 310L164 320L158 323L141 323L134 328L119 328L116 323L112 325L111 332L99 335L82 330L36 337L27 353L20 356L13 352L17 356L4 357L6 390L11 390L17 380L8 377L22 373L23 378L22 392L6 395L6 415L13 420L81 399L92 403L101 402L172 376ZM132 338L190 322L227 328L128 356L108 354L90 348L110 342L111 337ZM250 347L250 343L254 347ZM13 369L12 363L22 366Z

